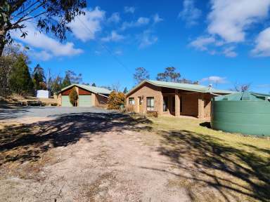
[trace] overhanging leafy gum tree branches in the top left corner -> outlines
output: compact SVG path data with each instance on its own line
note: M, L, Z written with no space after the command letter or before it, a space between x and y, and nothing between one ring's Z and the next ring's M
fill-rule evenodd
M71 32L68 24L77 15L84 15L86 0L1 0L0 1L0 55L6 43L13 40L9 33L13 29L27 35L25 22L34 20L41 32L51 32L57 39L66 39ZM25 29L24 29L25 28Z

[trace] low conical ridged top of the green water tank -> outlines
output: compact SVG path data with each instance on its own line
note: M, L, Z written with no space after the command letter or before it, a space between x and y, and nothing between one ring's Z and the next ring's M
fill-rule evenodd
M222 95L214 97L215 101L266 101L270 95L244 92L244 93L233 93L232 95Z

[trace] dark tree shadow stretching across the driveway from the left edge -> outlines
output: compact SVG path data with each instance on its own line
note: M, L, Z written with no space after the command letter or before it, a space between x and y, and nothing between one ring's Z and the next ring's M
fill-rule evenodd
M53 147L66 147L81 138L114 130L150 130L143 116L133 118L118 113L80 113L57 116L51 121L8 126L0 130L0 166L11 161L36 161ZM8 153L6 153L8 152ZM12 154L12 155L11 155Z

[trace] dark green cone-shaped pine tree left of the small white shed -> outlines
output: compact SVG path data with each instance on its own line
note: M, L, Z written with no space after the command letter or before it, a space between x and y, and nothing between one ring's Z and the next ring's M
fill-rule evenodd
M11 91L20 95L32 95L34 91L34 83L32 82L29 67L23 55L18 56L18 60L11 69L11 77L9 81Z

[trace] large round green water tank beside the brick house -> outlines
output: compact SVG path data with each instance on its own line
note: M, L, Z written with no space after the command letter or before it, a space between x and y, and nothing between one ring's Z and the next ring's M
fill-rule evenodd
M233 93L212 100L211 126L229 133L270 136L270 95Z

